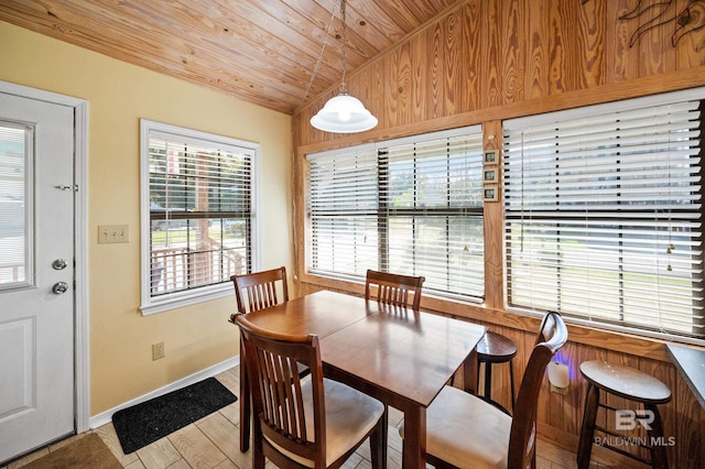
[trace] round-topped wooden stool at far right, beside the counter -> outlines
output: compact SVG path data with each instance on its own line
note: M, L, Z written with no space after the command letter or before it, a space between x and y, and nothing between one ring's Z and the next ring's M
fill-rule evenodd
M581 374L588 382L587 396L585 397L585 413L583 415L583 427L581 429L581 440L577 449L578 469L587 469L590 465L590 452L593 450L595 429L607 435L619 437L618 433L595 425L597 408L604 407L611 411L616 408L599 403L599 392L617 395L629 401L641 403L644 410L650 411L653 422L647 425L649 441L660 441L661 445L644 446L651 450L651 461L637 455L610 445L600 445L612 451L619 452L641 462L651 463L654 468L668 469L665 445L663 444L663 424L657 404L665 404L671 401L671 390L655 378L633 368L610 364L606 361L586 361L581 363ZM637 416L636 418L640 418ZM634 419L636 423L636 419ZM641 446L641 445L640 445Z

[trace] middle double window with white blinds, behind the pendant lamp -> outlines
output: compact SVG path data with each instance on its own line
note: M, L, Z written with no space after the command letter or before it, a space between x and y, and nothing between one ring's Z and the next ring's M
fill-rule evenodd
M308 160L310 272L424 275L424 291L484 297L479 126Z

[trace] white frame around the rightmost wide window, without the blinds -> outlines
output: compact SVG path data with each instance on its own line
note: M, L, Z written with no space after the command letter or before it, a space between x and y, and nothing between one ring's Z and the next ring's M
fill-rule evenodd
M507 128L509 127L510 129L513 129L514 131L517 129L521 129L521 128L525 128L525 127L533 127L533 126L541 126L541 124L546 124L553 121L567 121L567 120L577 120L577 119L583 119L583 118L590 118L593 116L598 116L599 113L611 113L615 111L628 111L631 109L639 109L639 108L647 108L647 107L662 107L662 106L669 106L669 105L673 105L676 102L682 102L682 101L701 101L701 108L703 107L703 102L705 102L705 88L693 88L693 89L687 89L687 90L682 90L682 91L674 91L674 92L665 92L665 94L661 94L661 95L654 95L654 96L648 96L648 97L641 97L641 98L632 98L632 99L628 99L625 101L616 101L616 102L607 102L607 103L603 103L603 105L593 105L593 106L585 106L585 107L581 107L581 108L576 108L576 109L570 109L570 110L563 110L563 111L555 111L555 112L547 112L545 114L538 114L538 116L528 116L528 117L522 117L522 118L517 118L517 119L511 119L508 121L505 121L502 124L502 132L505 135L507 135ZM701 114L701 129L705 128L705 114ZM699 137L699 141L701 141L701 157L705 156L705 145L702 143L703 142L703 138L705 135L701 132L701 137ZM506 143L507 144L507 143ZM505 166L507 166L509 164L509 162L506 160L505 161ZM508 171L507 167L505 168L505 177L509 177L508 176ZM705 164L703 164L701 162L701 167L699 167L699 175L701 175L701 181L699 183L696 183L695 186L702 186L703 183L705 182ZM502 185L505 185L506 181L505 178L502 178ZM502 192L503 196L507 195L506 192ZM705 195L704 195L704 190L701 188L701 195L703 198L701 198L701 221L703 220L704 216L703 216L703 206L705 205ZM508 210L506 207L507 200L503 200L503 206L506 209L505 212L505 219L503 219L503 232L502 232L502 249L503 249L503 270L505 270L505 275L503 275L503 297L506 299L506 305L505 308L508 312L511 313L520 313L520 314L527 314L527 315L534 315L538 314L540 310L540 308L535 307L534 305L512 305L510 304L510 292L509 290L511 288L511 286L509 285L509 275L510 275L510 266L509 266L509 262L510 262L510 255L509 255L509 237L511 234L510 229L509 229L509 223L510 223L510 217L508 216ZM648 218L647 214L649 212L649 210L637 210L637 211L643 211L644 216L642 218ZM651 210L653 211L653 210ZM674 211L675 212L675 211ZM594 211L593 214L593 220L597 220L599 221L600 214L599 211ZM538 219L534 217L534 219ZM561 219L561 217L553 217L553 219ZM517 221L517 218L514 216L513 218L514 221ZM631 220L631 219L629 219ZM633 220L637 220L636 218ZM626 222L625 225L628 225L628 222ZM701 226L699 228L699 239L702 240L705 237L705 228L703 228ZM701 244L701 248L705 248L705 246ZM695 248L694 248L695 249ZM701 255L699 258L701 263L703 263L704 259L703 255ZM703 283L703 276L701 276L701 283ZM695 302L697 299L697 297L692 297L693 301ZM696 307L696 305L698 305L698 303L694 303L694 308ZM701 304L702 305L702 304ZM614 330L614 331L618 331L618 332L627 332L627 334L636 334L639 336L646 336L646 337L655 337L655 338L660 338L660 339L666 339L666 340L679 340L679 341L686 341L686 342L693 342L693 343L703 343L703 340L705 339L705 337L698 337L696 335L695 331L692 331L692 334L687 334L687 332L675 332L672 330L665 330L665 329L661 329L661 330L657 330L657 327L653 328L648 328L647 326L638 326L637 324L633 323L622 323L622 321L614 321L614 320L609 320L609 319L601 319L599 317L592 317L590 315L585 315L585 314L576 314L574 312L570 312L570 310L565 310L563 312L564 316L566 317L567 321L574 323L574 324L578 324L578 325L584 325L584 326L588 326L588 327L596 327L599 329L605 329L605 330ZM695 309L693 310L693 313L695 314ZM695 318L697 318L698 316L695 316ZM701 319L702 320L702 319Z

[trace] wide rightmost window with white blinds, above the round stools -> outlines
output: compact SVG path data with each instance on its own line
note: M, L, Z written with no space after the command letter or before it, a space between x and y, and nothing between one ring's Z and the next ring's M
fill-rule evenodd
M705 337L703 98L505 122L510 306Z

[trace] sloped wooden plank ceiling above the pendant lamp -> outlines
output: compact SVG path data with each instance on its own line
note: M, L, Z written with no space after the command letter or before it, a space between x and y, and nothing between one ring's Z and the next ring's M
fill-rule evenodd
M292 114L340 84L339 1L2 0L0 20ZM348 0L347 73L460 3Z

